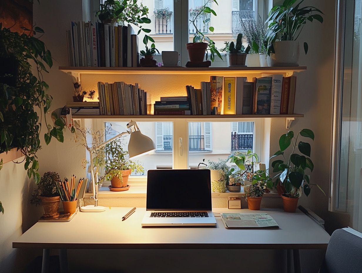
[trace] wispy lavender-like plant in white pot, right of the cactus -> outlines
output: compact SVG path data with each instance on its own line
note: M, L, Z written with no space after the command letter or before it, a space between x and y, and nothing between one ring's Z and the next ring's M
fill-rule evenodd
M258 19L255 20L252 13L248 13L247 18L240 19L240 25L248 45L251 45L246 60L247 66L268 66L266 61L266 44L264 42L265 27L261 16L258 15ZM252 62L251 57L254 55L256 55L257 58Z

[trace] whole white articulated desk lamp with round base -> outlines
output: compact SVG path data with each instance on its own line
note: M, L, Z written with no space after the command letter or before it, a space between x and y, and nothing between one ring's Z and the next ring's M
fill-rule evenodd
M130 159L143 156L144 154L151 153L155 150L155 144L153 143L152 139L148 136L145 136L141 133L141 131L138 128L138 125L135 121L132 121L127 124L127 131L120 133L119 135L112 137L110 140L107 140L100 144L97 148L102 148L109 142L115 140L118 137L131 135L130 141L128 143L128 153L130 156ZM93 165L93 156L92 153L94 152L94 148L90 149L89 156L90 156L90 176L92 183L92 191L93 191L93 199L94 199L94 205L88 205L84 207L80 207L80 211L84 212L101 212L105 211L105 207L98 206L98 186L96 186L96 183L98 182L98 173L96 170L94 170Z

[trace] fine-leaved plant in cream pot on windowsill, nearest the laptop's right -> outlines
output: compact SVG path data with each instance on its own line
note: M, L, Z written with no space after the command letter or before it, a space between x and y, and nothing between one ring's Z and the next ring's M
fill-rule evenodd
M211 191L216 193L226 192L226 185L229 183L229 176L232 174L227 160L208 161L211 173Z

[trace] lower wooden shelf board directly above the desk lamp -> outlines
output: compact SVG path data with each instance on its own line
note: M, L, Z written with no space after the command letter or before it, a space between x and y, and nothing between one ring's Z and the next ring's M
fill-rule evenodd
M104 115L73 115L73 119L245 119L245 118L288 118L288 117L304 117L303 114L293 115L144 115L144 116L104 116Z

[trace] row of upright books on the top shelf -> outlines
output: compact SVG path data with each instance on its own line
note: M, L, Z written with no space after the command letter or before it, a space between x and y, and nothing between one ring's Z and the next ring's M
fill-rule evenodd
M139 66L138 36L131 25L71 22L66 39L69 66Z

